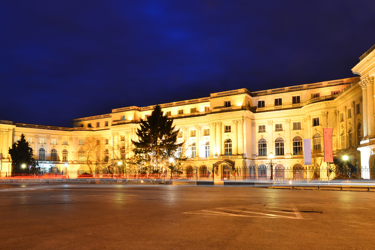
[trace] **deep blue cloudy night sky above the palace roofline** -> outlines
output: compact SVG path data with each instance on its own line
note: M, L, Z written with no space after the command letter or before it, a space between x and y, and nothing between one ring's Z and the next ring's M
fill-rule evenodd
M0 120L72 119L354 77L375 1L0 3Z

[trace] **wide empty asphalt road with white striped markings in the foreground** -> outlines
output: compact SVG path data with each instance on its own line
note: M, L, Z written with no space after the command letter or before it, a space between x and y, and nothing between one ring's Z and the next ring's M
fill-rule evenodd
M0 249L374 249L375 193L0 185Z

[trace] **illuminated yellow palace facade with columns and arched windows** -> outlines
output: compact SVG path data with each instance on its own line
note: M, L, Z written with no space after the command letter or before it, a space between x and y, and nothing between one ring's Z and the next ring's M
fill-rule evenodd
M331 127L334 156L346 154L356 167L375 166L374 48L352 69L358 77L257 92L242 88L160 104L180 129L178 139L185 142L177 154L189 157L190 166L208 168L221 162L236 167L262 166L269 164L267 156L273 152L274 167L307 167L303 139L310 138L312 150L320 151L323 128ZM101 138L104 144L92 161L109 164L116 158L113 146L121 142L131 148L140 119L153 107L112 109L109 114L74 119L72 128L1 120L1 176L11 171L8 148L22 133L45 169L86 169L80 154L88 137ZM124 154L130 158L132 151Z

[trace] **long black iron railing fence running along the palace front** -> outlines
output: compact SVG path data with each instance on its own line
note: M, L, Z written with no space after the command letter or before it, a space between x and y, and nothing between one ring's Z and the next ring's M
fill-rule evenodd
M56 171L41 174L12 174L0 172L1 178L36 178L36 179L80 179L80 178L123 178L123 179L176 179L195 181L329 181L334 179L371 179L375 180L375 168L331 168L331 167L183 167L178 170L145 172L137 169L122 172L109 172L108 170L75 170Z

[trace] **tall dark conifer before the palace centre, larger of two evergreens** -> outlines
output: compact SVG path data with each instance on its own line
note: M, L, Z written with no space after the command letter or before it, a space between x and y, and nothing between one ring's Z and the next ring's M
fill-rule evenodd
M173 119L163 115L159 105L156 105L146 120L141 119L141 128L137 129L138 142L134 145L135 159L139 164L155 172L161 166L167 166L167 160L174 155L181 144L177 144L179 130L175 130Z

